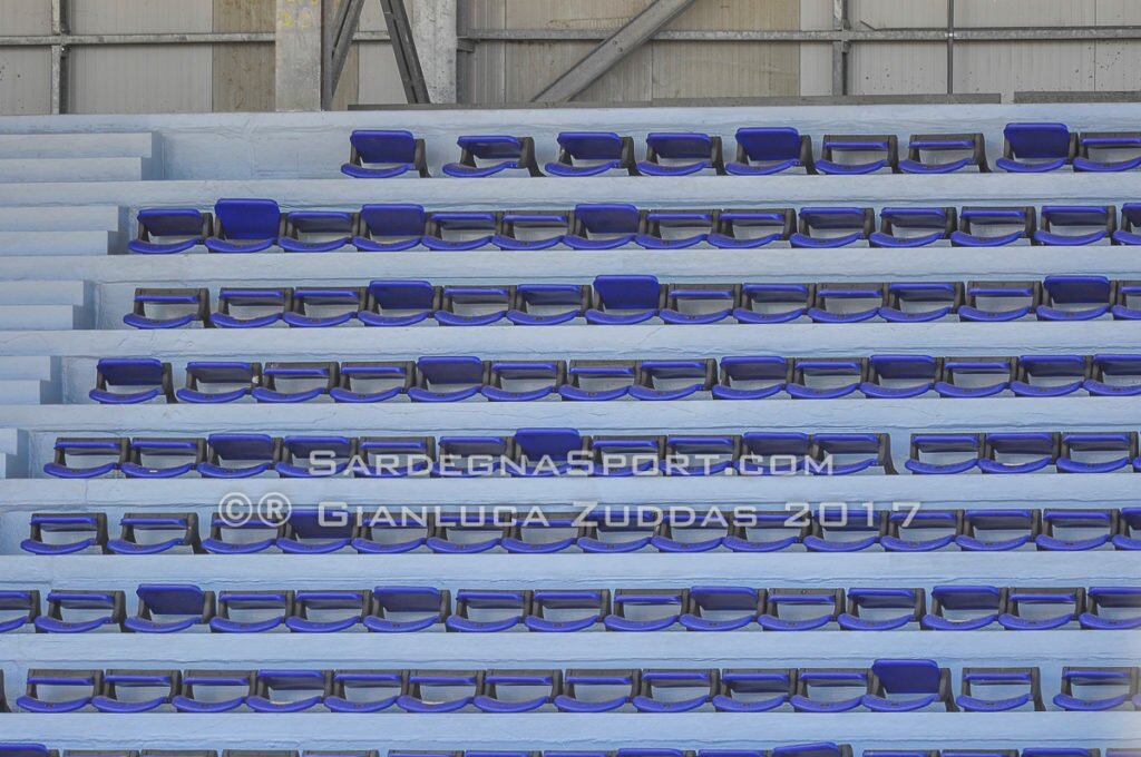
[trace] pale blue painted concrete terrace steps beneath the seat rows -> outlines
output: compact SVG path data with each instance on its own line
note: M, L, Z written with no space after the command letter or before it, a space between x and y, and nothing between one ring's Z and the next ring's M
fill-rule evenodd
M1089 274L1138 279L1127 247L913 250L764 249L681 251L625 247L606 252L335 252L127 254L135 215L152 206L210 210L220 197L274 198L282 210L348 210L364 203L415 202L428 210L570 209L580 202L638 207L800 207L806 205L963 206L973 204L1120 204L1135 202L1138 173L869 177L702 176L638 178L444 179L469 133L535 137L540 164L555 158L561 130L613 130L639 153L654 130L699 129L726 138L738 125L793 124L819 147L825 133L980 131L992 158L1009 121L1057 121L1053 105L539 108L349 112L323 114L121 115L0 120L0 592L121 589L128 613L144 583L207 589L371 588L678 588L697 585L920 587L941 584L1091 587L1138 586L1130 553L936 552L871 550L826 554L487 554L319 557L261 553L37 556L22 551L33 513L102 512L112 538L126 513L196 513L209 522L217 503L240 491L254 502L281 495L294 506L494 506L548 512L612 506L760 506L843 502L921 502L930 508L1122 508L1141 504L1141 473L1102 475L913 475L903 470L913 431L1136 431L1141 404L1131 398L1069 396L986 399L843 399L793 401L339 405L329 401L220 406L97 405L89 397L96 363L155 357L181 386L191 360L389 360L421 356L483 359L721 358L734 355L851 357L874 353L1025 356L1141 352L1134 323L794 323L468 328L259 329L127 327L136 287L227 285L364 286L372 279L434 284L590 283L601 274L650 274L663 283L903 282L1041 279ZM1141 104L1068 106L1071 129L1136 131ZM852 124L858 125L852 125ZM520 125L525 124L525 125ZM408 129L428 141L432 179L353 180L353 129ZM156 180L163 179L163 180ZM1139 249L1133 249L1139 250ZM739 433L750 430L881 431L891 434L898 475L560 479L305 480L267 475L202 479L48 478L42 467L58 437L207 437L218 431L283 434L509 434L519 428L572 426L583 433ZM949 667L1041 666L1047 707L1066 665L1136 665L1139 632L1074 628L1022 633L501 633L202 634L86 633L0 635L0 673L9 705L31 668L734 668L866 667L876 658L930 658ZM1050 715L1050 717L1046 717ZM381 719L378 719L381 718ZM1126 747L1141 714L803 713L733 715L459 714L375 717L302 713L200 715L146 713L0 714L0 741L54 748L250 749L614 749L624 746L741 749L834 740L858 750Z

